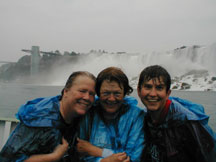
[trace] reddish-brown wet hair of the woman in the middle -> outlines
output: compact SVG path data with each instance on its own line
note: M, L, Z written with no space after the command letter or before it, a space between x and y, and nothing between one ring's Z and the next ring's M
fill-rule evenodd
M100 96L100 88L104 80L115 81L119 86L123 85L124 95L129 95L133 92L133 88L129 85L128 77L120 68L108 67L98 74L96 79L96 93L98 96Z

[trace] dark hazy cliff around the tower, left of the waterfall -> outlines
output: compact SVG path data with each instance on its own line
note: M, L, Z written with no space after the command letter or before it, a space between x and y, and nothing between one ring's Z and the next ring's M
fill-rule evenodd
M16 63L7 63L0 67L1 82L33 82L32 79L49 75L49 72L60 65L76 62L79 55L42 55L39 63L39 73L31 76L31 55L21 57Z

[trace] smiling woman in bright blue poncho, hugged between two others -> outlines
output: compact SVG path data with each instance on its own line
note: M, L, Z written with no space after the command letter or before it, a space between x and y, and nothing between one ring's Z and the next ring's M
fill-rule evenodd
M108 67L98 74L99 99L80 124L77 149L86 154L84 161L112 162L120 158L129 162L140 158L144 111L137 107L135 98L126 97L132 91L121 69Z

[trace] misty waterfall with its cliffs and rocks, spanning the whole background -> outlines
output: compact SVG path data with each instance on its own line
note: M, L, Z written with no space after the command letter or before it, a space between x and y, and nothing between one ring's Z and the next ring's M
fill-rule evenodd
M158 64L170 73L175 89L184 89L182 85L186 85L187 89L192 90L196 85L194 89L216 90L216 43L208 46L182 46L166 52L109 53L91 50L89 53L73 55L43 55L39 73L30 77L29 58L23 56L15 64L2 66L1 78L14 77L15 82L21 83L64 85L74 71L85 70L97 76L104 68L116 66L126 73L131 85L136 87L140 72L149 65Z

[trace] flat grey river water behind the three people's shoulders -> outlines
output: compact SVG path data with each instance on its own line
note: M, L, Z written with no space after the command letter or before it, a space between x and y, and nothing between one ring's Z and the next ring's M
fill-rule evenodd
M0 118L14 118L21 104L26 101L60 94L63 86L0 84ZM136 91L132 96L137 97ZM215 91L172 91L171 96L181 97L202 104L210 116L209 125L216 130L216 92ZM139 101L139 105L142 104Z

